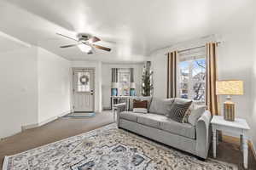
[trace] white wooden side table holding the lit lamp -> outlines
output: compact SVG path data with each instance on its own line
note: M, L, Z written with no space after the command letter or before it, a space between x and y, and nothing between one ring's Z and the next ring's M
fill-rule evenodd
M216 131L224 131L231 135L240 136L241 149L243 152L243 166L248 167L248 144L247 144L247 131L250 127L247 125L246 120L236 118L235 122L225 121L223 116L212 117L212 144L213 144L213 157L216 158L216 143L218 140Z

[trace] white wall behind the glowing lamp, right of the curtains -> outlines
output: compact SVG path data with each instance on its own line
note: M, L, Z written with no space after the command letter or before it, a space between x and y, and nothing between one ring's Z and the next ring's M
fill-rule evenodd
M256 128L256 120L252 116L252 66L253 66L253 28L247 31L224 30L224 43L218 47L218 79L238 79L244 82L244 94L232 96L236 103L236 117L247 120L252 129ZM225 96L220 97L221 111ZM249 131L253 139L253 130ZM256 141L253 141L256 144Z

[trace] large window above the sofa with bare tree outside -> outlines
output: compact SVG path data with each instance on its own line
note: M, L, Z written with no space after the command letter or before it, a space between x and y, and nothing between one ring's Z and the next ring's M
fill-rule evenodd
M184 99L205 102L206 98L206 51L197 49L178 55L177 95Z

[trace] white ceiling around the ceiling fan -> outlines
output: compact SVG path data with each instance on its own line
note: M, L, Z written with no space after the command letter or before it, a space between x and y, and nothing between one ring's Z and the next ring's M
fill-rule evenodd
M253 0L0 0L0 31L64 58L105 62L142 61L152 51L236 26ZM242 12L241 12L242 11ZM101 37L111 53L59 48L85 32ZM0 41L1 42L1 41ZM109 43L111 42L111 43ZM115 43L113 43L115 42Z

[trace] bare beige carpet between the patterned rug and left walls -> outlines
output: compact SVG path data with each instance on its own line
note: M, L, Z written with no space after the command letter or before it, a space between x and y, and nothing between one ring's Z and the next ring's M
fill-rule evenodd
M57 119L55 122L49 122L42 127L29 129L3 139L0 141L0 169L3 166L4 156L15 155L44 144L66 139L112 122L113 114L111 111L96 113L95 117L90 118L63 117Z

